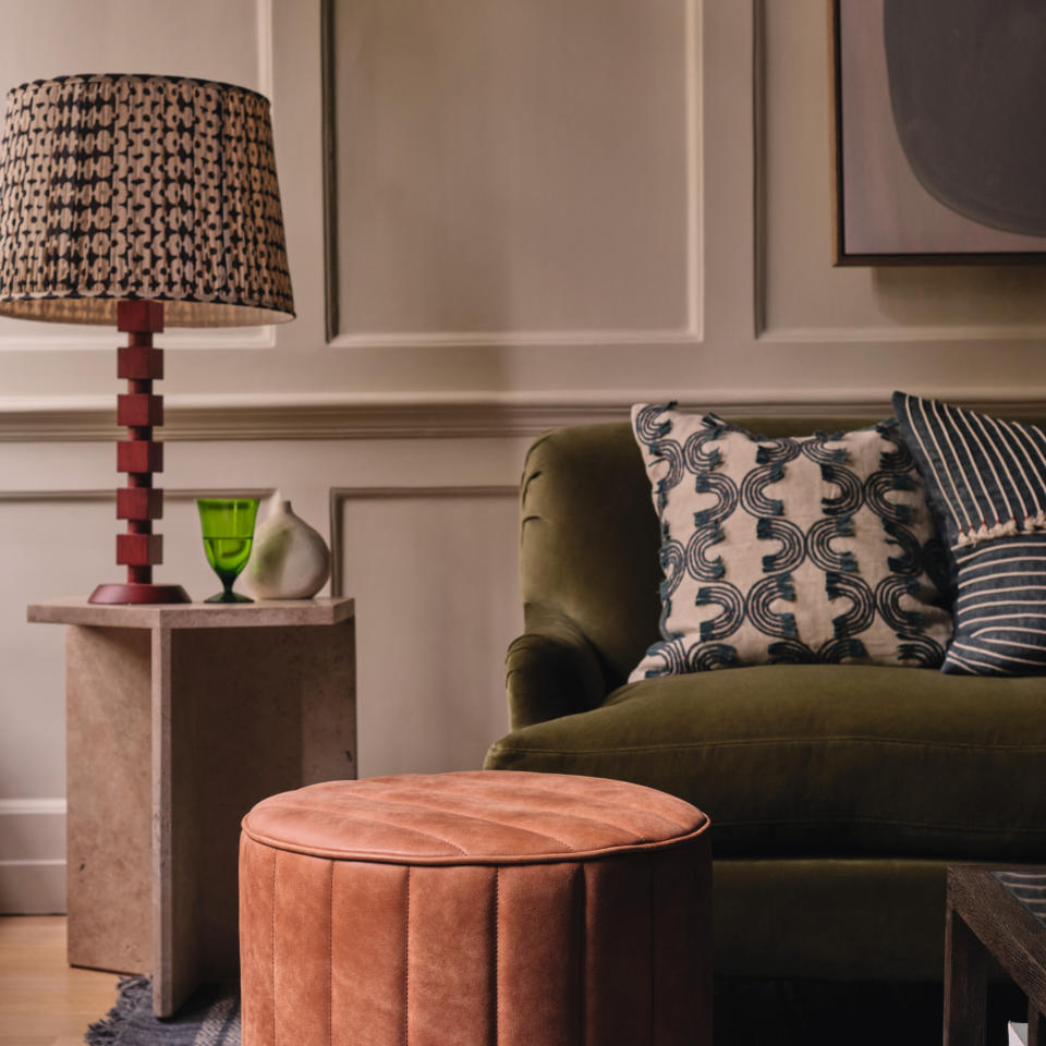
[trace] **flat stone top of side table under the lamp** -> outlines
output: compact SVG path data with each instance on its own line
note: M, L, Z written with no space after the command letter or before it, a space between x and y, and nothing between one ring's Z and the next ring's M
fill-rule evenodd
M42 624L85 624L110 629L247 629L338 624L355 615L346 596L262 599L257 603L173 603L112 606L81 597L32 603L26 620Z

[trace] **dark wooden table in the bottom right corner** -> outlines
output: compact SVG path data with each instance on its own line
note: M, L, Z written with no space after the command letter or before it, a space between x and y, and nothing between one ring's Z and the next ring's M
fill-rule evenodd
M948 868L945 1046L984 1046L988 956L1027 996L1027 1046L1046 1044L1046 867Z

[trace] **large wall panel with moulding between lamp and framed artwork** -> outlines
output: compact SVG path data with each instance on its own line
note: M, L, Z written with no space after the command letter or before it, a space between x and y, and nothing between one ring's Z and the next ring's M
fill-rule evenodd
M701 340L701 0L319 15L332 346Z

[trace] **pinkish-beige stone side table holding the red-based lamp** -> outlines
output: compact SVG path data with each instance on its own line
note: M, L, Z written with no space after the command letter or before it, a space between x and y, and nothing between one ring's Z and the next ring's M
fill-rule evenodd
M153 977L168 1017L239 975L240 819L356 776L353 600L101 606L65 636L69 962Z

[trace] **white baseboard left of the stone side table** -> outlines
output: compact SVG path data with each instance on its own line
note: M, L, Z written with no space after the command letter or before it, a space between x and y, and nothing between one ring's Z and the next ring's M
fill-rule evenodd
M0 799L0 914L65 911L65 800Z

